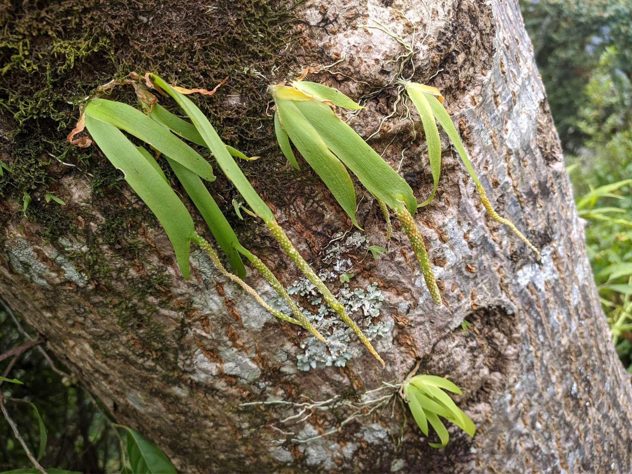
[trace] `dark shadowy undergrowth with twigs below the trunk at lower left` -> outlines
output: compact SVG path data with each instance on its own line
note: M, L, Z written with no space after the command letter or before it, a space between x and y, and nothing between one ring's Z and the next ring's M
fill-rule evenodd
M176 473L159 447L112 422L1 300L0 336L2 474Z

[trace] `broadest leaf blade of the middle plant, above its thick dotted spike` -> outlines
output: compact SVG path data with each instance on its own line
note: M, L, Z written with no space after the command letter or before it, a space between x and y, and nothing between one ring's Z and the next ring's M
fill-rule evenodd
M330 107L319 100L297 100L295 105L370 193L391 209L398 209L403 201L410 212L415 212L417 200L408 183Z

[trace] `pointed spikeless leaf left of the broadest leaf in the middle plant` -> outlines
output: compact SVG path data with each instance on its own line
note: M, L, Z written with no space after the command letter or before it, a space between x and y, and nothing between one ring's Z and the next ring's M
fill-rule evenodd
M329 151L318 132L314 130L293 102L277 100L277 107L285 124L285 130L292 138L296 149L324 181L338 204L351 217L351 222L360 228L355 217L355 189L344 164Z

